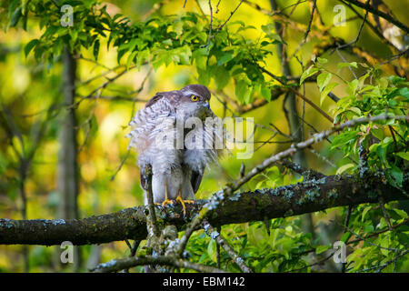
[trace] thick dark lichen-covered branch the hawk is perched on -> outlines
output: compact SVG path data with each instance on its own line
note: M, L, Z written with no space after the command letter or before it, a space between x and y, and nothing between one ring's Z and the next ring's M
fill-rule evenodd
M366 180L354 176L326 176L304 183L274 189L237 193L219 202L207 213L214 226L263 221L284 216L297 216L322 211L335 206L351 206L407 199L409 179L405 175L402 189L390 186L384 176L369 176ZM205 205L198 200L187 206L187 218L182 207L156 207L158 223L172 224L184 229L197 211ZM125 239L145 239L145 206L126 208L113 214L84 219L0 219L0 244L60 245L71 241L74 245L102 244Z

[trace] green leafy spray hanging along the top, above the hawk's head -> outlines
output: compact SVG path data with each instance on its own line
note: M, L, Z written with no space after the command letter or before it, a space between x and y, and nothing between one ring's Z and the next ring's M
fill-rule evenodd
M25 15L18 16L11 26L17 25L20 18L25 23L27 15L32 13L41 19L40 28L45 28L39 39L25 45L25 55L33 51L37 61L53 64L66 46L70 52L92 48L97 60L101 42L107 39L107 47L117 50L118 63L126 55L127 68L145 63L151 63L155 69L172 63L195 63L201 84L208 85L214 78L216 88L221 90L233 77L240 102L248 104L254 95L270 101L273 85L264 79L258 66L272 54L274 44L282 42L272 34L272 24L263 26L264 35L251 40L244 38L241 32L254 30L254 26L244 25L242 21L227 25L215 21L213 25L217 28L212 40L208 41L208 20L204 15L191 12L181 16L165 15L131 25L124 15L111 17L106 13L106 6L100 7L96 1L66 1L65 5L75 9L75 25L68 28L56 17L60 13L54 1L31 1L17 8L25 11Z

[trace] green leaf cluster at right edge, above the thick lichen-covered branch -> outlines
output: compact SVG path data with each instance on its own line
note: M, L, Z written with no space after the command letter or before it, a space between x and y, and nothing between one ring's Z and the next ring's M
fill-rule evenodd
M308 76L317 72L317 85L321 91L321 103L328 93L334 89L338 83L330 83L333 75L324 64L327 59L318 58L314 65L311 65L301 76L301 83ZM360 63L365 69L361 77L348 82L342 80L346 85L346 94L337 102L334 108L335 123L343 123L349 119L368 115L381 115L387 112L388 115L405 115L409 102L409 83L404 78L390 75L381 75L380 68L370 67ZM358 68L356 62L340 63L339 69L348 67ZM340 78L342 79L342 78ZM370 80L369 82L366 82ZM390 135L386 135L386 131ZM370 123L369 125L359 125L349 128L341 135L334 138L331 149L341 150L346 156L361 156L365 161L364 165L347 164L338 170L338 174L347 169L360 171L361 174L384 169L388 181L397 187L402 187L404 180L404 161L408 160L407 153L408 123L406 120L398 121L390 119ZM367 167L367 168L366 168Z

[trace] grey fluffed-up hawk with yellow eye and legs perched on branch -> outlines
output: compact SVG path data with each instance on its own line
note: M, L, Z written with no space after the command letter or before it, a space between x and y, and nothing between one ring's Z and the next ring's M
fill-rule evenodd
M158 92L131 121L129 147L138 152L145 194L145 166L152 166L156 205L179 202L185 213L185 203L194 203L205 167L221 154L224 127L210 109L210 97L204 85Z

